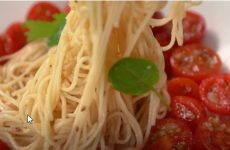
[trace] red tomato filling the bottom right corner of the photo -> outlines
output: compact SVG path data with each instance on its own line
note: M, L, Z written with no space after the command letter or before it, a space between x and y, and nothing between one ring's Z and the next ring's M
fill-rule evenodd
M229 150L230 122L209 117L200 123L194 137L196 150Z

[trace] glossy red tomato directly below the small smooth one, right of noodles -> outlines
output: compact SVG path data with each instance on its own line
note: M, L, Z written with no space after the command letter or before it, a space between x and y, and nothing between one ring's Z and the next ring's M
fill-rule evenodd
M197 99L175 96L171 102L172 116L190 122L192 127L205 118L205 111Z

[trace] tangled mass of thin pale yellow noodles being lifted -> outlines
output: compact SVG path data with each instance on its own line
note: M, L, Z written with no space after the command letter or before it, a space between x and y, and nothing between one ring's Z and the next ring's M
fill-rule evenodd
M172 2L163 19L151 17L166 2L70 5L57 47L35 41L0 68L0 138L17 150L141 149L167 109L153 92L134 97L114 90L108 69L122 57L151 59L160 70L155 88L169 103L162 51L182 44L191 2ZM171 41L162 48L149 26L169 22Z

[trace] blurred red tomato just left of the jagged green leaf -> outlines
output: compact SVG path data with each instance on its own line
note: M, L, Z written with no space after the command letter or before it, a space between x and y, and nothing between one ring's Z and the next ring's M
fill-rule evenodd
M13 23L6 30L6 43L5 51L7 54L11 54L26 45L27 29L22 26L21 23Z

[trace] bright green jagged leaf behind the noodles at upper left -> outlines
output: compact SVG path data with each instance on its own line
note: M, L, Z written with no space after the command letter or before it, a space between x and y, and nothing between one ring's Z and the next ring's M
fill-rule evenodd
M54 15L52 22L28 20L24 26L29 29L26 33L28 42L33 40L48 38L49 46L56 45L60 38L60 33L65 25L64 13Z

